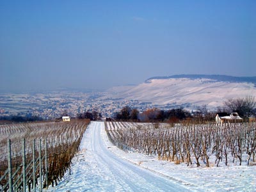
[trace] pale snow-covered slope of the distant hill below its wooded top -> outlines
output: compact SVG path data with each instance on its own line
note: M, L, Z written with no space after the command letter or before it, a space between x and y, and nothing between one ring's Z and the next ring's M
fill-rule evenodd
M109 90L113 99L139 100L152 104L184 104L196 106L207 105L209 108L222 106L229 98L256 97L254 83L228 82L217 79L169 78L148 79L137 86L121 86Z

